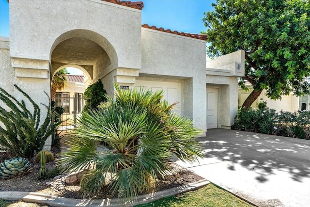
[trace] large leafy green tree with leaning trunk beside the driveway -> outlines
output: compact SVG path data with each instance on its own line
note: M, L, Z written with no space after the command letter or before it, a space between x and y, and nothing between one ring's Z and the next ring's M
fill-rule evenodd
M245 76L254 91L243 106L248 108L263 89L271 99L294 92L310 93L309 0L217 0L203 21L207 53L217 57L245 50Z

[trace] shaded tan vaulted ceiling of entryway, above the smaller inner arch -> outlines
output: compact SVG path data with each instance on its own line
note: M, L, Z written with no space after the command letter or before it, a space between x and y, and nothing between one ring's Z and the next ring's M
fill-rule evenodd
M108 94L113 94L113 77L118 59L113 46L102 35L89 30L72 30L60 35L51 52L51 79L63 67L75 67L84 72L91 84L100 79Z

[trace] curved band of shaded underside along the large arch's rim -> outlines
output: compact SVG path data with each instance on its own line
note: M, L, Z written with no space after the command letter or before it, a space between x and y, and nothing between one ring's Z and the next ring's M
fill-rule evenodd
M76 29L76 30L67 31L67 32L62 33L59 37L57 37L53 45L50 48L49 60L51 60L52 53L54 49L57 47L57 45L73 37L88 39L98 44L101 48L103 48L107 52L113 67L116 68L118 66L117 53L115 51L115 48L109 42L109 40L105 38L104 36L98 34L97 32L93 32L90 30L84 30L84 29Z

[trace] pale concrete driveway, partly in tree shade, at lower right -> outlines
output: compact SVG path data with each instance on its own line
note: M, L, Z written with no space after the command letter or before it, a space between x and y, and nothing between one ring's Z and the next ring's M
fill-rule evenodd
M204 158L176 161L262 207L310 207L310 140L228 129L198 138Z

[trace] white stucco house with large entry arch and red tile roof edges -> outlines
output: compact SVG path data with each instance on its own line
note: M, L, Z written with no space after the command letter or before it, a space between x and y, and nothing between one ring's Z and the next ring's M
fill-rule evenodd
M0 87L47 103L53 75L82 70L92 83L163 89L197 127L230 128L238 106L244 51L206 62L206 36L141 25L143 2L10 0L10 38L0 39ZM44 114L42 114L44 115ZM50 140L47 141L47 147Z

